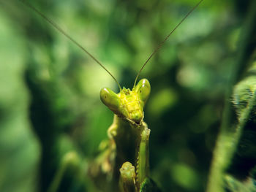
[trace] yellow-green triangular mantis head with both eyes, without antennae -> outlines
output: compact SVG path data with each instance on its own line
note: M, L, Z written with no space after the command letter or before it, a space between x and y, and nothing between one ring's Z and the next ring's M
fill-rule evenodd
M142 79L132 88L132 91L129 88L123 88L120 93L114 93L110 88L102 88L100 99L118 117L140 124L144 118L143 107L150 90L148 80Z

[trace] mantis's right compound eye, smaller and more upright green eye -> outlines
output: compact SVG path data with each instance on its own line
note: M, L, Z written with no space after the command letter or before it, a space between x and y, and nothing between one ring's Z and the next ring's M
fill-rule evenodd
M138 93L140 99L146 103L148 96L150 94L150 83L147 79L142 79L138 82L138 84L135 87L135 91Z

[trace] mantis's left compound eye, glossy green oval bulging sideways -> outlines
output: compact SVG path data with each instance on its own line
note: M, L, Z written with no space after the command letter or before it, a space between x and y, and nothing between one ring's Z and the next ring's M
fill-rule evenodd
M100 91L100 99L102 103L105 104L110 110L117 111L120 106L120 99L117 94L113 92L110 88L102 88Z

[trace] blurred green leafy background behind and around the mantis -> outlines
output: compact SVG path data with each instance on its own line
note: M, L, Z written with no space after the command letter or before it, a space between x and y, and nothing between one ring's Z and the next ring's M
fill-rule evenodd
M197 0L29 1L132 88L140 67ZM249 1L203 1L149 61L145 121L162 191L205 191L227 81ZM86 170L118 87L88 55L20 1L0 1L0 191L46 191L76 152L60 191L97 191ZM74 166L75 167L75 166Z

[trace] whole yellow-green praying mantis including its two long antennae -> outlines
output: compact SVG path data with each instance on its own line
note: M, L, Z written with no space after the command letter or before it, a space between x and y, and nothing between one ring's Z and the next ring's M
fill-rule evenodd
M170 34L159 44L153 53L148 57L146 62L140 68L133 88L121 88L116 78L111 74L108 69L105 68L91 53L83 48L78 42L63 31L56 23L48 19L39 12L37 9L27 4L26 1L22 1L27 7L37 12L42 18L56 28L61 34L64 34L75 45L80 47L90 58L92 58L105 72L108 72L113 80L116 81L119 93L114 93L110 88L102 88L100 91L100 99L113 113L113 124L108 129L108 148L104 151L104 155L101 156L99 164L99 174L105 174L110 178L109 191L118 191L118 185L120 182L121 191L146 191L149 186L151 188L157 188L154 182L150 180L149 174L149 158L148 158L148 139L150 135L150 129L144 122L143 107L145 107L146 101L151 91L151 85L146 79L138 81L140 72L144 69L148 61L153 57L155 53L162 47L166 40L173 34L173 31L181 25L181 23L189 16L189 14L202 2L199 1L195 7L181 20L178 25L170 31ZM138 82L138 83L137 83ZM108 164L107 168L101 167ZM93 167L93 166L92 166ZM105 166L106 167L106 166ZM120 181L119 181L120 180Z

